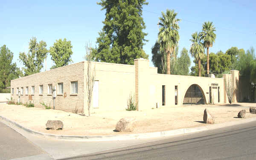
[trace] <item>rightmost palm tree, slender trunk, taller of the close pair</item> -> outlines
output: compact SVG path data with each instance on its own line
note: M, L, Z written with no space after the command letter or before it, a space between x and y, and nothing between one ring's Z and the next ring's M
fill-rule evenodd
M207 48L207 74L209 74L209 47L215 42L216 34L214 33L215 27L212 22L204 22L200 37L204 41L204 47Z

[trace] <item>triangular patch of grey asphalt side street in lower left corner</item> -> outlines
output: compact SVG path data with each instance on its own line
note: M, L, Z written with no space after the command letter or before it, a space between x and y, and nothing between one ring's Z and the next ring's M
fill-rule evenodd
M30 143L12 128L0 122L0 160L42 154L44 154L44 151Z

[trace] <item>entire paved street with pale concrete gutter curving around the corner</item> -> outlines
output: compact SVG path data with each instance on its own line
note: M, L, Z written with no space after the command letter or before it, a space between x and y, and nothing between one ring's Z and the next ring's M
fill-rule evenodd
M50 160L52 157L63 160L255 160L255 122L179 137L104 142L51 140L28 134L4 122L15 131L0 123L0 159L23 157L18 160Z

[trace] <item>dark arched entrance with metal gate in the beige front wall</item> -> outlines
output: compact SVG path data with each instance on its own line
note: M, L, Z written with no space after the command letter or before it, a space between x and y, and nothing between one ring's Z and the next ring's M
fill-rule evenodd
M183 104L205 104L204 94L197 84L189 86L183 99Z

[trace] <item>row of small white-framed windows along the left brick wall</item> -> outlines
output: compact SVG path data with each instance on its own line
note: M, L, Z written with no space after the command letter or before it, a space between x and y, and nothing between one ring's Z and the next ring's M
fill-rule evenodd
M17 87L17 94L23 95L24 94L24 89L23 87L20 88ZM31 94L33 95L35 93L35 86L31 86ZM43 94L44 93L44 85L39 85L39 94ZM63 94L63 83L58 83L58 90L57 90L58 94ZM71 81L71 93L78 93L78 82L77 81ZM12 94L14 94L14 88L12 88ZM25 90L25 94L28 95L29 94L29 87L26 87ZM48 94L52 94L52 84L48 84Z

